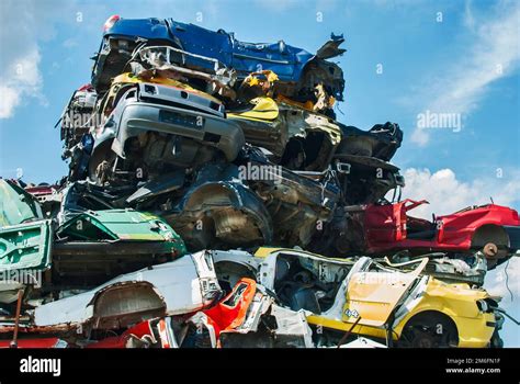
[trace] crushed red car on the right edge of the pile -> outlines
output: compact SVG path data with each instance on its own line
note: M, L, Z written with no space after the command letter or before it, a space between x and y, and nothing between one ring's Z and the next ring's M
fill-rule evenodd
M370 204L349 210L362 228L365 251L482 250L488 259L504 259L520 249L520 221L515 210L487 204L450 215L433 215L432 221L408 215L422 204L428 202L407 199L394 204Z

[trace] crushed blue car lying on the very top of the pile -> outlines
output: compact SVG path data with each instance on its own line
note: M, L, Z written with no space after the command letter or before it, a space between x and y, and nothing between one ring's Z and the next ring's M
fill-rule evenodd
M139 48L170 46L179 54L178 64L186 68L214 72L216 60L235 70L238 80L255 71L271 70L280 80L278 91L285 97L309 100L315 86L323 83L328 94L341 101L343 72L326 59L346 52L339 47L343 41L342 35L332 34L316 54L310 54L283 41L245 43L236 39L234 33L210 31L172 19L132 20L114 15L106 21L99 53L93 57L92 84L98 93L103 93L112 78L129 69Z

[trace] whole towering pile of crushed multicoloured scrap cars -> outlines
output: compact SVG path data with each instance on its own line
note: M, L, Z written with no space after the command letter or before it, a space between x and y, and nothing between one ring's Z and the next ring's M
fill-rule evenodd
M410 216L399 125L336 120L342 43L110 18L69 174L0 180L0 347L500 347L518 213Z

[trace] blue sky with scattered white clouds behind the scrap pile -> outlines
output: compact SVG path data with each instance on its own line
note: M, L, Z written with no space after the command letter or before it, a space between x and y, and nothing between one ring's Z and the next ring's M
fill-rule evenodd
M489 196L520 210L518 1L8 0L0 12L2 177L19 168L32 182L65 174L53 126L71 92L89 82L89 57L110 15L171 16L309 52L331 32L343 33L348 52L337 61L347 87L339 120L361 128L400 124L405 140L394 162L407 178L405 194L430 201L419 213L450 213ZM427 111L453 113L462 128L418 128ZM520 317L520 263L508 268L516 298L505 305ZM502 269L486 283L508 295ZM510 321L504 335L507 345L520 347Z

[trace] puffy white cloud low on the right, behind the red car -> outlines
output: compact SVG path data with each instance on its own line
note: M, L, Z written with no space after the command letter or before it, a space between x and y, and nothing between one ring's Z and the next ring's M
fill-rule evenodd
M518 171L509 178L481 178L472 182L459 180L451 169L431 172L429 169L409 168L404 176L404 199L425 199L430 202L412 211L411 214L418 217L431 218L432 213L449 214L470 205L488 203L489 196L500 205L510 206L520 201ZM500 305L511 316L520 318L520 258L511 258L507 271L506 264L489 271L484 286L491 295L504 297ZM506 347L520 347L520 332L511 320L506 319L501 336Z

